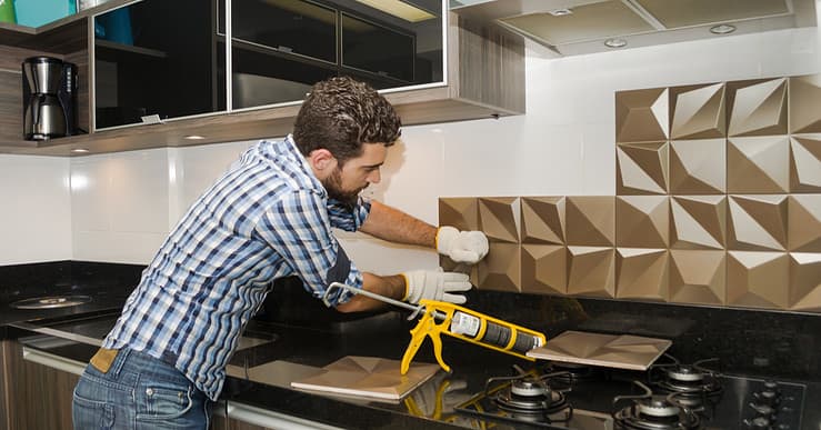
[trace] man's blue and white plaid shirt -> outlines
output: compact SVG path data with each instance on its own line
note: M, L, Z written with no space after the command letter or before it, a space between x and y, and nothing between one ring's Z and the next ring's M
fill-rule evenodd
M260 141L182 217L103 347L169 362L217 400L226 364L274 279L297 274L318 298L333 280L361 288L331 228L354 231L369 211L361 198L352 209L329 199L290 136Z

